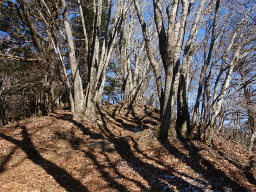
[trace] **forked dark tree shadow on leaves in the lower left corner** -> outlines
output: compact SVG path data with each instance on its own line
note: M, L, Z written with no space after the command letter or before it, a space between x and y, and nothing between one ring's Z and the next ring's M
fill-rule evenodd
M40 156L30 139L30 135L28 134L26 127L22 126L21 128L23 140L16 140L2 133L0 133L0 137L4 140L12 142L16 146L19 146L27 154L28 159L32 160L34 164L42 167L48 174L53 176L53 178L56 180L56 182L58 182L60 186L62 186L66 190L88 191L86 186L84 186L79 180L73 178L68 172L66 172L65 169L60 168L56 164ZM62 174L59 173L65 174L65 179L62 178Z

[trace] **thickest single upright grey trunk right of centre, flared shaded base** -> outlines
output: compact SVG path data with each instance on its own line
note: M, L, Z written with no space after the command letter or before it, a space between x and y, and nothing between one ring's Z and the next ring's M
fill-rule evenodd
M162 139L166 139L168 137L177 137L177 132L175 129L175 102L177 100L180 77L180 54L184 40L186 19L189 13L188 1L184 0L181 2L182 16L180 20L176 23L178 0L173 1L170 14L168 15L166 65L164 66L166 80L164 90L163 115L159 123L160 131L158 131L157 129L155 131L155 136Z

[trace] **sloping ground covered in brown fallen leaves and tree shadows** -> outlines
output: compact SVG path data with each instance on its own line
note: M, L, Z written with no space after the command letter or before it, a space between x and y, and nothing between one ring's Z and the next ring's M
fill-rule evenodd
M140 140L158 123L152 106L102 103L101 115L57 109L0 128L0 191L256 192L256 156L242 146L216 134L211 147Z

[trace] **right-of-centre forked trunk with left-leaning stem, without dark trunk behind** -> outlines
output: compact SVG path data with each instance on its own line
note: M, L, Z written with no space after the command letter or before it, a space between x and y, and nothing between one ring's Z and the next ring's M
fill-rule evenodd
M160 46L160 54L165 70L165 90L160 89L160 83L158 86L158 80L160 75L156 72L159 70L159 66L155 64L150 49L148 32L146 31L146 23L142 17L142 13L137 0L134 0L134 4L137 10L137 15L142 26L142 32L145 40L146 50L148 53L148 59L152 64L152 67L156 76L156 83L158 87L158 95L160 98L160 111L161 118L158 126L154 131L154 137L158 139L167 139L168 137L176 138L177 132L175 130L176 111L175 102L177 100L179 75L180 75L180 54L184 40L184 31L186 26L186 19L188 16L189 4L187 0L181 0L182 3L182 16L176 23L176 16L178 12L178 0L172 2L172 8L168 14L168 33L167 36L164 30L164 24L162 19L161 4L160 1L154 0L154 14L155 23L158 31L158 39ZM161 83L162 84L162 83ZM160 92L161 90L161 92ZM164 101L162 102L162 96L164 95ZM161 98L162 97L162 98Z

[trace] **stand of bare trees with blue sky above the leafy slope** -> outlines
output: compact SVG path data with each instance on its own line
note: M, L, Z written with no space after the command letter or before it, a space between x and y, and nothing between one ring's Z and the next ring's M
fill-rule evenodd
M0 115L100 120L101 102L160 108L152 136L214 131L253 148L253 0L0 0ZM196 134L194 131L196 130ZM254 147L255 148L255 147Z

